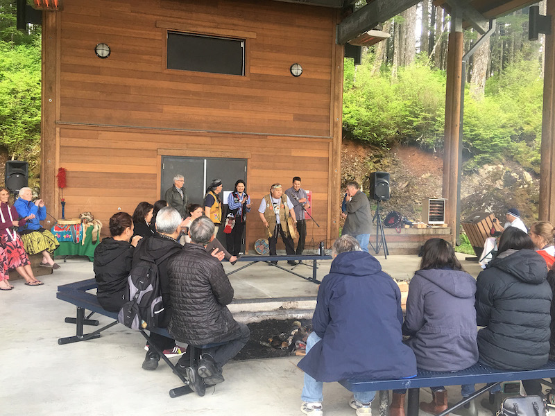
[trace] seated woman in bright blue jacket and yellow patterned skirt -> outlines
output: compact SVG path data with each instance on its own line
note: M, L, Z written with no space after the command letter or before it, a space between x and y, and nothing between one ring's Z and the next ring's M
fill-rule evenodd
M40 221L46 220L46 207L41 199L31 202L33 191L31 188L19 190L19 198L13 206L19 215L19 235L22 236L23 245L27 254L41 253L40 266L60 268L52 259L52 253L60 243L48 229L42 228Z

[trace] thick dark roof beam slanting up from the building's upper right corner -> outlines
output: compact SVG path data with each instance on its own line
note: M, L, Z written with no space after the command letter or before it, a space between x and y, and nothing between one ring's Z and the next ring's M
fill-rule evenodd
M418 0L372 1L341 21L337 26L337 43L345 44L417 3Z

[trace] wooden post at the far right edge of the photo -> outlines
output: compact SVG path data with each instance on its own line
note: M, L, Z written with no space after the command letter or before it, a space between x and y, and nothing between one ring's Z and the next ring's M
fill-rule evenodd
M545 75L543 78L543 121L540 162L540 220L555 223L555 3L547 1L552 33L545 35Z

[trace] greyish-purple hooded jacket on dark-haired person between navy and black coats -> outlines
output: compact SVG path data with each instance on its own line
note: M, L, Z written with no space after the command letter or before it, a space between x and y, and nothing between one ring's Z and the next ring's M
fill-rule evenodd
M411 279L403 334L419 368L459 371L478 361L476 281L459 270L418 270Z

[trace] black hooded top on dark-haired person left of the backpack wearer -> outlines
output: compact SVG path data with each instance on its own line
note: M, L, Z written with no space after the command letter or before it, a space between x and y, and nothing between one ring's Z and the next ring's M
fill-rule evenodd
M99 304L110 312L118 312L127 300L127 277L131 271L133 245L107 237L94 249L94 278L99 288Z

